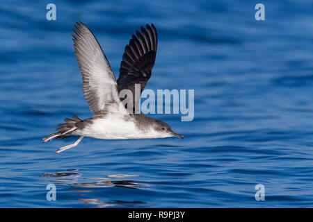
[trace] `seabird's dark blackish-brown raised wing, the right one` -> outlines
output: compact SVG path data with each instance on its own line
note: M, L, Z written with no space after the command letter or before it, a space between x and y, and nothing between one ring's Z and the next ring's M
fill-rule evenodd
M141 85L141 92L149 80L157 55L157 30L152 24L141 27L141 33L136 31L132 35L129 44L125 46L125 52L120 62L120 76L118 78L118 92L129 89L133 94L133 110L138 108L139 99L135 98L135 84ZM136 94L137 96L141 96ZM135 103L136 101L136 103Z

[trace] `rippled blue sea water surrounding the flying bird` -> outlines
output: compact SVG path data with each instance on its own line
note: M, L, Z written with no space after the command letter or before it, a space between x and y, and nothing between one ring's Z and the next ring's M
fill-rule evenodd
M0 3L0 207L313 207L313 4L262 1ZM195 89L195 119L152 117L185 139L42 144L91 117L72 28L86 23L118 76L140 26L159 33L148 89ZM151 116L151 115L150 115ZM56 201L46 199L56 185ZM255 185L265 200L255 200Z

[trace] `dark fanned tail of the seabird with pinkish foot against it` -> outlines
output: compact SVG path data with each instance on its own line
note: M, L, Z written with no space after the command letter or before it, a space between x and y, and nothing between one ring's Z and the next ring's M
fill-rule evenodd
M79 119L76 115L73 115L73 119L64 119L65 123L60 123L58 126L60 128L56 128L55 130L58 131L56 133L52 133L51 135L42 139L42 142L51 141L51 139L63 139L65 137L71 137L74 130L77 130L76 123L79 123L83 120Z

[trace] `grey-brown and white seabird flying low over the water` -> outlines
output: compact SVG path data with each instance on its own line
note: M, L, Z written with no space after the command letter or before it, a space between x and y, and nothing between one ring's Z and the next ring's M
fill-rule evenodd
M127 110L119 93L123 89L131 90L135 95L135 84L139 84L141 92L152 74L157 54L157 30L153 24L141 27L141 32L132 35L120 63L120 76L115 80L108 59L95 35L82 22L74 25L73 41L75 56L83 76L83 96L88 101L90 111L94 113L89 119L79 119L73 115L72 119L65 118L53 133L42 139L79 136L74 144L63 146L55 153L60 153L77 146L83 137L97 139L152 139L165 137L179 137L167 123L152 119L144 114L136 114L139 99L133 96L133 110ZM140 94L138 96L141 96Z

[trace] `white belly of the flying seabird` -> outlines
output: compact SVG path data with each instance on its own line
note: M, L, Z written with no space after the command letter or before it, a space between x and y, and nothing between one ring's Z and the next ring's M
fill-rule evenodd
M76 130L75 134L97 139L141 139L149 135L138 130L133 121L124 121L122 117L95 119L93 124Z

